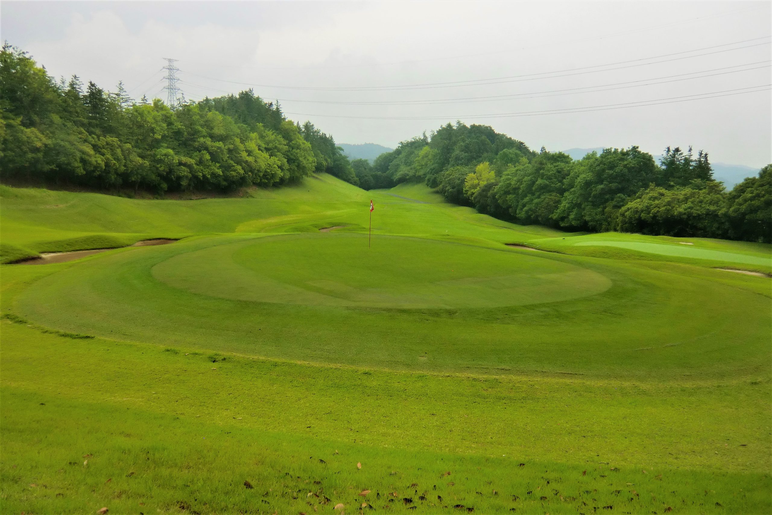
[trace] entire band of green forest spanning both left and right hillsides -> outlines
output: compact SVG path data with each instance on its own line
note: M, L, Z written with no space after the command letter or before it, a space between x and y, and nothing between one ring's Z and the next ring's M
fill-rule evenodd
M132 100L77 76L54 80L6 43L0 53L0 177L108 191L229 191L327 172L364 189L425 181L499 219L569 230L772 241L772 165L731 191L708 154L638 147L581 160L532 151L485 125L446 124L371 164L252 92Z

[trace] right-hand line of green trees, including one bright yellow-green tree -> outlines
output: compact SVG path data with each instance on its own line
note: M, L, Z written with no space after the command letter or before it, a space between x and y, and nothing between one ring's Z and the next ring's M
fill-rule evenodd
M352 166L363 188L425 181L449 202L523 224L772 242L772 164L725 191L691 147L668 147L659 163L638 147L574 160L457 122Z

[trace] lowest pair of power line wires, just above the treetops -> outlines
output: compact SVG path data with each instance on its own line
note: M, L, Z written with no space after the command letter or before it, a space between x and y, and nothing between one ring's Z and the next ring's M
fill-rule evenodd
M718 97L732 97L733 95L742 95L745 93L758 93L760 91L769 91L772 84L761 84L759 86L749 86L745 88L736 88L734 90L713 91L711 93L699 93L696 95L685 95L682 97L669 97L653 100L641 100L639 102L625 102L625 103L610 103L601 106L587 106L587 107L567 107L564 109L553 110L539 110L539 111L520 111L515 113L494 113L494 114L472 114L463 116L444 116L444 117L357 117L357 116L344 116L338 114L308 114L308 113L285 113L293 114L295 116L303 117L328 117L328 118L350 118L356 120L461 120L461 119L479 119L479 118L507 118L507 117L524 117L524 116L540 116L544 114L569 114L569 113L588 113L591 111L601 110L615 110L626 109L628 107L646 107L656 106L665 103L679 103L689 102L692 100L705 100L709 98ZM757 89L764 88L764 89ZM753 90L753 91L744 91ZM732 93L735 92L735 93ZM724 93L724 94L720 94ZM697 98L689 98L697 97Z

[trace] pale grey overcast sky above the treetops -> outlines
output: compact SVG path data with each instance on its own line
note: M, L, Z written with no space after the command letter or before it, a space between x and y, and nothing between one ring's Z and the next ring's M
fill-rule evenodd
M338 143L462 120L535 150L693 145L761 167L770 5L3 0L0 30L53 76L135 98L165 99L162 58L178 59L185 97L251 85Z

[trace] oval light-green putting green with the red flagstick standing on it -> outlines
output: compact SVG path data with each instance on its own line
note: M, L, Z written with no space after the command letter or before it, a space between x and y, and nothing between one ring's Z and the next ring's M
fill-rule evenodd
M224 299L398 308L523 306L611 286L600 273L545 257L393 236L368 248L357 234L227 243L167 259L153 276Z

